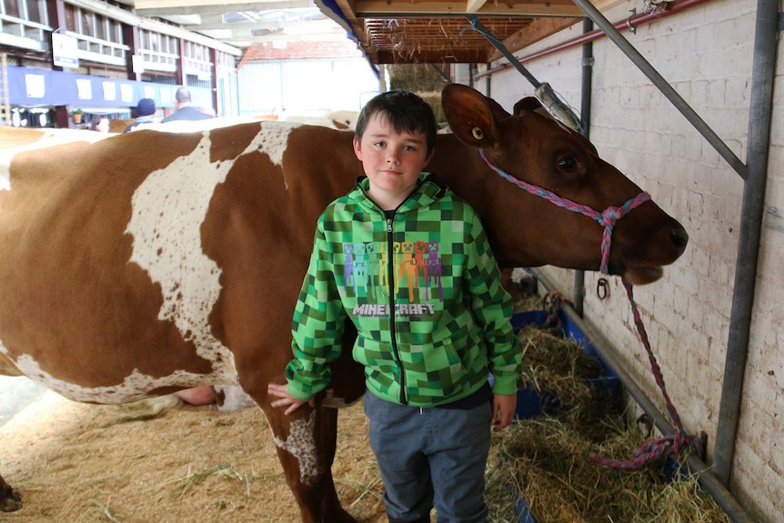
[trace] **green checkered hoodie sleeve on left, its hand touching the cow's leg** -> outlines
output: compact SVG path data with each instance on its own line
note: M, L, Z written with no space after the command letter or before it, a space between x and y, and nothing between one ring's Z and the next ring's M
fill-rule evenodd
M286 366L288 392L299 399L315 397L327 387L332 377L329 363L340 356L346 312L332 268L323 221L319 220L292 321L294 359Z

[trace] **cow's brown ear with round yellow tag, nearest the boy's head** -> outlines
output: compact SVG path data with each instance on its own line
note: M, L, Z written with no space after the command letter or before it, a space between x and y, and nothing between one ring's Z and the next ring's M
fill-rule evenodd
M455 137L467 146L483 149L498 144L498 120L509 116L495 100L467 85L444 87L441 106Z

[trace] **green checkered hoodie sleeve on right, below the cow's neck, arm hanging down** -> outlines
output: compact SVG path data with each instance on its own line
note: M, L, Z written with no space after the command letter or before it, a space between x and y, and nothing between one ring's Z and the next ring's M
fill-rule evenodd
M471 239L467 246L467 286L471 310L484 331L487 360L494 379L493 393L514 394L518 389L523 353L509 321L512 297L501 285L501 274L484 227L476 213L471 213L471 216Z

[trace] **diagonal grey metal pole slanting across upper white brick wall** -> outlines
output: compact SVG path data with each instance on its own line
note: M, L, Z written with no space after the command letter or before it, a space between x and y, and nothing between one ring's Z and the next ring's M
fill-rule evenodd
M732 152L729 146L721 140L719 135L713 132L713 129L711 129L697 112L686 103L686 100L678 95L678 91L676 91L672 85L669 85L668 81L665 80L662 75L658 74L658 71L653 65L650 65L648 60L646 60L643 55L640 55L633 45L628 43L628 40L618 32L615 25L612 25L608 19L589 2L589 0L574 0L574 3L577 4L606 35L608 35L608 38L612 40L615 45L618 45L618 48L628 56L634 65L638 66L638 69L642 71L644 75L648 76L648 79L653 82L653 85L656 85L659 91L661 91L664 96L667 96L672 105L676 106L683 116L686 116L686 119L699 131L699 134L705 137L719 155L727 160L729 166L731 166L741 178L745 179L747 176L746 166L743 165L743 162L740 161L739 157L735 156L735 153Z

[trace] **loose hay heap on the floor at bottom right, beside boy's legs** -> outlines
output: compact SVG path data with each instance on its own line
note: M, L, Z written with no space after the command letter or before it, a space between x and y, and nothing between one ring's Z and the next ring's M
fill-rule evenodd
M524 521L511 491L525 499L536 523L729 523L696 478L670 481L662 467L628 471L588 460L592 452L628 457L644 442L619 418L599 423L606 431L601 440L558 417L520 421L494 435L486 475L490 520Z

